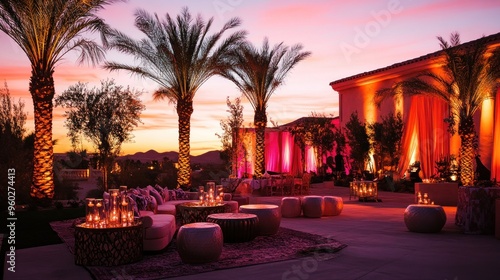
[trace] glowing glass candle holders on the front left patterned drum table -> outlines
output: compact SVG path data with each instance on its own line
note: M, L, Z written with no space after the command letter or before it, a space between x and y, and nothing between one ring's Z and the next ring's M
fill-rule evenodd
M109 189L109 199L86 199L85 225L91 228L125 227L134 223L127 187Z

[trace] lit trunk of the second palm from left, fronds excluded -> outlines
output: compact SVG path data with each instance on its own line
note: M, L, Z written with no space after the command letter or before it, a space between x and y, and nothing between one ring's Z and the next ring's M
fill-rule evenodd
M177 101L177 115L179 116L179 169L177 170L177 187L191 186L191 158L190 133L191 115L193 114L192 101Z

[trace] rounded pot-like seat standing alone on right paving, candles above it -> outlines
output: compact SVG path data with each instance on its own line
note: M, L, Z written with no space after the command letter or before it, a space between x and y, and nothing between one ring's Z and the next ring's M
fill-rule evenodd
M409 231L439 232L446 224L446 213L440 205L410 204L404 212L404 221Z

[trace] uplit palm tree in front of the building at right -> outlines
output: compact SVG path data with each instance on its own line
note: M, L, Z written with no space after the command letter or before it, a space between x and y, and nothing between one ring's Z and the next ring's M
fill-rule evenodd
M388 96L428 94L445 100L451 111L447 121L450 132L455 132L458 121L460 136L460 180L463 185L474 182L476 154L476 129L474 113L484 100L494 98L500 77L500 48L489 49L488 40L478 40L460 45L460 35L452 33L450 42L438 37L444 55L442 74L423 73L414 78L395 83L376 93L377 104Z

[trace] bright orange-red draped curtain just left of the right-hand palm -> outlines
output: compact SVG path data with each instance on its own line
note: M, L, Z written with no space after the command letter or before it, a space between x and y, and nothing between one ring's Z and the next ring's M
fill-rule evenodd
M399 170L403 173L411 163L420 161L423 178L429 178L436 173L436 161L449 155L450 134L444 122L449 116L448 105L424 95L413 96L410 102Z

